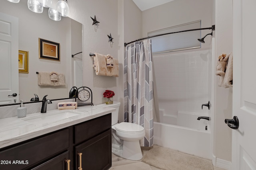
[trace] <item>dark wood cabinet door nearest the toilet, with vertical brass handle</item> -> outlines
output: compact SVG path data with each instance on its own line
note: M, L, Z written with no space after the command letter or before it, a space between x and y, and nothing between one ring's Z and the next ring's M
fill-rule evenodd
M107 170L112 161L111 129L78 145L75 150L76 169L80 167L84 170Z

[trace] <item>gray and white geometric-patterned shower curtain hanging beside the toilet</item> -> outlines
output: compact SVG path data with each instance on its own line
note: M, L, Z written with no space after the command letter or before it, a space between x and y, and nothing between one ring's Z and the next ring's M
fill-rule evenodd
M153 145L153 69L151 40L126 46L124 57L124 121L144 127L142 147Z

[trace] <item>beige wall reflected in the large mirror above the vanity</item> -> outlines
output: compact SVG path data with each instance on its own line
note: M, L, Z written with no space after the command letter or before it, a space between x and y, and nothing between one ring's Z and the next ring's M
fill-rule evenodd
M39 100L68 98L73 86L82 86L75 75L82 74L82 24L68 17L53 21L48 17L48 8L37 14L28 9L27 1L0 2L0 12L18 18L19 45L21 51L28 51L28 73L19 73L19 100L30 102L37 94ZM60 61L39 59L39 38L60 43ZM80 53L75 57L72 55ZM18 60L18 57L17 57ZM65 75L64 86L39 86L36 72L58 72Z

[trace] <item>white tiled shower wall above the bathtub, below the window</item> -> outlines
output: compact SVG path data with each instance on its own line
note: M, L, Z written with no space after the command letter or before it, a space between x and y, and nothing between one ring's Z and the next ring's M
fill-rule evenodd
M156 88L162 123L176 125L178 111L208 116L209 50L154 54ZM164 114L165 116L162 116Z

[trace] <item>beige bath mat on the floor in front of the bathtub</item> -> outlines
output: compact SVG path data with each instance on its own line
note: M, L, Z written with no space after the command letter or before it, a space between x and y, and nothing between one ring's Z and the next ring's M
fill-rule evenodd
M142 162L163 170L213 170L212 161L154 145Z

